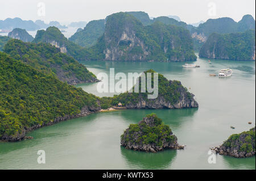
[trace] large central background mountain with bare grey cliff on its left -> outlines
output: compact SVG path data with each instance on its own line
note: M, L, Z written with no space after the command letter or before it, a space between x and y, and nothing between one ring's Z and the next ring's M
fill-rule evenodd
M189 31L158 21L144 27L138 19L124 12L107 17L100 40L98 47L104 45L105 60L196 60Z

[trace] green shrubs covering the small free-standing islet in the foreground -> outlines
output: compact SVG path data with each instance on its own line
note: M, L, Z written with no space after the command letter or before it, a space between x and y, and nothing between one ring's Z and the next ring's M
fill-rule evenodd
M126 133L121 135L121 140L131 144L156 144L156 146L163 146L163 142L173 142L175 139L172 131L168 125L164 125L162 119L156 116L155 113L146 115L147 118L154 119L150 123L151 126L144 121L138 124L130 124ZM136 137L136 138L135 138Z

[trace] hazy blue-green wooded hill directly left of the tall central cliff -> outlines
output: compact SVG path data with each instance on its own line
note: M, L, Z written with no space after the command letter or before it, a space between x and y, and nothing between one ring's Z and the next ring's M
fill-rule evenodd
M97 43L97 39L103 35L105 30L105 19L93 20L86 24L84 30L76 32L68 40L81 47L92 47Z

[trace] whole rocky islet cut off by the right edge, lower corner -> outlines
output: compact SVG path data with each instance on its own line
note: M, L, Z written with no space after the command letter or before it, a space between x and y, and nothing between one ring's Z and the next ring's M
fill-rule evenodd
M221 146L213 150L221 155L236 158L253 157L255 155L255 127L247 132L233 134Z

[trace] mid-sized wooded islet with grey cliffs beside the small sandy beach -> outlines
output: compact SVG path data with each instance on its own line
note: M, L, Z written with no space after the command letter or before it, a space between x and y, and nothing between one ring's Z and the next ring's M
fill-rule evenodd
M154 70L145 71L145 73L154 72ZM141 86L140 82L139 86ZM146 89L146 92L124 92L115 95L113 96L113 102L122 103L123 106L129 109L196 108L199 107L199 104L194 99L194 96L181 85L181 82L168 81L162 74L158 74L157 98L148 99Z

